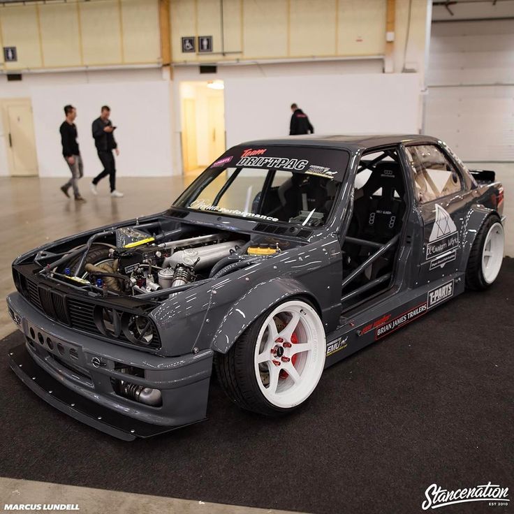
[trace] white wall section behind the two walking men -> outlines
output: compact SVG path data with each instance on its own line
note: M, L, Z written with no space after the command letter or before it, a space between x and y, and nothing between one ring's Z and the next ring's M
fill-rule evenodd
M118 127L118 175L172 174L170 82L161 70L26 74L22 82L6 82L5 77L0 81L0 98L31 98L41 177L69 175L59 136L66 103L78 110L75 123L86 176L94 176L102 169L91 136L91 122L103 104L110 106L112 121ZM3 131L0 175L8 175Z

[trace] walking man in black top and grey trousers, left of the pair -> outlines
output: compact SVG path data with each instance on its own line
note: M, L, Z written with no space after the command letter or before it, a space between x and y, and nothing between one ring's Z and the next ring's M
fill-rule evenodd
M73 123L77 117L77 110L73 105L65 105L64 114L66 115L66 119L62 122L59 132L61 133L62 154L70 168L71 179L69 179L64 186L61 186L61 191L70 198L68 189L72 187L75 200L85 202L86 200L80 196L78 191L78 179L84 175L84 168L82 166L82 157L78 149L77 127Z

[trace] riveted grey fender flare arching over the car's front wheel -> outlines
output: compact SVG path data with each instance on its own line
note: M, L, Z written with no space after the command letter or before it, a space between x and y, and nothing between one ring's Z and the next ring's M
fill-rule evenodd
M221 320L214 333L211 348L219 353L227 353L237 338L247 330L260 314L279 302L292 296L304 296L310 300L319 313L315 296L299 281L278 277L260 282L237 300Z

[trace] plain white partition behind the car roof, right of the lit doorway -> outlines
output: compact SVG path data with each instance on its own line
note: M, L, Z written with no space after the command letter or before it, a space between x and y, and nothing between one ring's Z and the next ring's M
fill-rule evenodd
M416 73L227 79L227 145L288 135L292 101L318 134L417 133Z

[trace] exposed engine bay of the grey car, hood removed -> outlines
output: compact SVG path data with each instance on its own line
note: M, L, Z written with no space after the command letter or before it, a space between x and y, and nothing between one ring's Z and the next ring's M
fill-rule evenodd
M281 251L278 242L252 244L244 235L175 228L154 233L160 223L96 233L57 260L39 252L47 278L107 295L168 298L206 279L218 278ZM52 262L53 260L53 262ZM168 292L166 294L166 292Z

